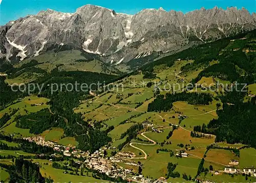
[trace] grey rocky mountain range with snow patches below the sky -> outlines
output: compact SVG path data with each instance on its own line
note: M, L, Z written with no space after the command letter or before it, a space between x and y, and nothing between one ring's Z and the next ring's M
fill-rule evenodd
M69 45L120 64L153 51L175 51L193 41L205 42L255 28L256 14L246 9L202 8L183 14L160 8L127 15L86 5L75 13L46 10L1 26L0 57L23 60L56 45Z

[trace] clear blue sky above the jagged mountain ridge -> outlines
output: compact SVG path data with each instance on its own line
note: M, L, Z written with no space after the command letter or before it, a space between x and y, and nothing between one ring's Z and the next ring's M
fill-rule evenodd
M61 12L75 12L80 6L93 4L105 8L114 9L116 12L135 14L144 8L163 7L166 11L176 10L186 13L195 9L215 6L245 7L250 13L256 12L256 0L0 0L0 25L10 20L24 17L28 14L36 14L47 8Z

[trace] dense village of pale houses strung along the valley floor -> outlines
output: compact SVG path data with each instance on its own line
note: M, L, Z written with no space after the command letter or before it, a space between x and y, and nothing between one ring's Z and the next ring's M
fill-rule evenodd
M107 150L107 147L103 147L102 149L96 150L94 153L90 153L89 151L81 151L76 149L75 146L63 146L59 145L55 142L45 141L43 136L32 136L31 138L24 138L29 142L35 142L41 146L48 146L53 148L56 152L63 153L63 155L68 157L85 157L86 160L84 162L75 161L77 164L81 165L84 163L89 169L97 170L100 173L104 173L112 178L122 177L123 179L127 179L128 181L139 181L139 182L158 182L164 183L166 182L164 177L160 177L158 180L153 180L150 178L145 178L143 175L135 174L133 169L125 169L119 166L117 163L124 163L127 165L133 165L135 167L139 167L138 163L126 163L127 159L134 158L136 155L132 152L118 152L115 156L112 157L104 157L104 151ZM55 155L55 154L53 154ZM52 159L50 159L52 161Z

